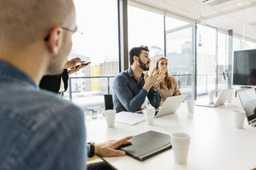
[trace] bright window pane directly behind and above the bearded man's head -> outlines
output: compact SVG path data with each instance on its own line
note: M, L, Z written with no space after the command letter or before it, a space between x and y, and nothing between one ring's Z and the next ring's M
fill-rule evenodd
M157 58L164 56L164 16L128 6L129 49L140 45L149 47L153 70Z

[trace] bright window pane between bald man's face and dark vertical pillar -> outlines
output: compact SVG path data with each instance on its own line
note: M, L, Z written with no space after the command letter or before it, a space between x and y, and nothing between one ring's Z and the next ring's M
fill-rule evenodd
M74 3L76 23L83 35L72 37L69 58L80 57L92 63L70 75L72 91L68 89L64 97L70 99L72 93L72 101L83 110L103 108L103 95L111 93L113 77L118 73L117 2L74 0Z

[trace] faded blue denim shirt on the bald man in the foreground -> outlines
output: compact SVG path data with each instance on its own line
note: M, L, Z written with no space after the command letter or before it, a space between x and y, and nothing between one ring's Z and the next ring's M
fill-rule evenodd
M83 112L0 60L0 169L83 169Z

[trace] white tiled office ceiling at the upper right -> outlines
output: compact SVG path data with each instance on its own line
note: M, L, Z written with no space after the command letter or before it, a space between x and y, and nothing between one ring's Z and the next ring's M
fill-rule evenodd
M256 0L136 0L256 41ZM244 26L243 26L244 25ZM244 27L244 28L243 28Z

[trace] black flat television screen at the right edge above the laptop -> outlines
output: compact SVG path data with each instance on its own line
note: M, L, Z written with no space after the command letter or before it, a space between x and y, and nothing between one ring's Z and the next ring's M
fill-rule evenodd
M256 49L234 51L233 85L256 86Z

